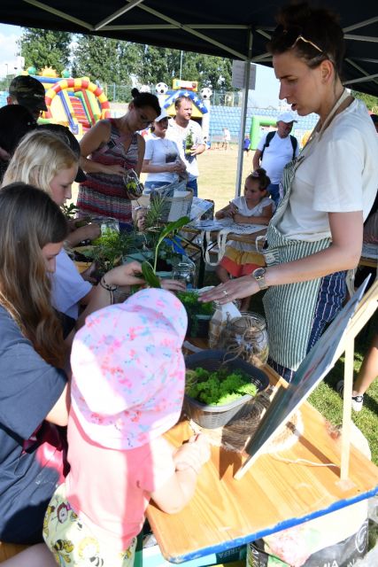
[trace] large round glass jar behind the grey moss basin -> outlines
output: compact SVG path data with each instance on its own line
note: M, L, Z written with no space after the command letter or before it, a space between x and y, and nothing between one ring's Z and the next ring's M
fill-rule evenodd
M242 312L241 315L226 324L218 347L260 367L266 363L269 353L266 321L256 313Z

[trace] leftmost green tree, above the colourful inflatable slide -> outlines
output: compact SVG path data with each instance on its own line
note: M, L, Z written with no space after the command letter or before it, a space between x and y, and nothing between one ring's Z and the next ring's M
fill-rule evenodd
M41 70L51 66L58 74L69 65L72 34L52 32L35 27L24 27L19 38L19 49L25 58L25 66Z

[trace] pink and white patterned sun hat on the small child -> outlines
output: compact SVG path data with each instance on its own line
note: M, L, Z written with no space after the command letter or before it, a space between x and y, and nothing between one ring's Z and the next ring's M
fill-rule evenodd
M73 340L72 409L90 439L141 447L178 421L187 323L179 299L158 289L87 317Z

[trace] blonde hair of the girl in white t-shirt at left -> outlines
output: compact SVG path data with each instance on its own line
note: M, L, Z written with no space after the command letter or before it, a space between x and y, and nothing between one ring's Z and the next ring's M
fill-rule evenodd
M62 138L47 130L35 130L21 140L14 152L3 186L30 183L50 195L50 183L55 175L78 164L77 156Z

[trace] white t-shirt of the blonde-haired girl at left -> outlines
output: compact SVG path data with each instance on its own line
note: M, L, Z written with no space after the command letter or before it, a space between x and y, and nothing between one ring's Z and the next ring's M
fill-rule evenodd
M81 277L73 260L63 249L58 253L57 268L51 274L51 283L52 305L61 313L77 319L78 301L89 293L92 285Z

